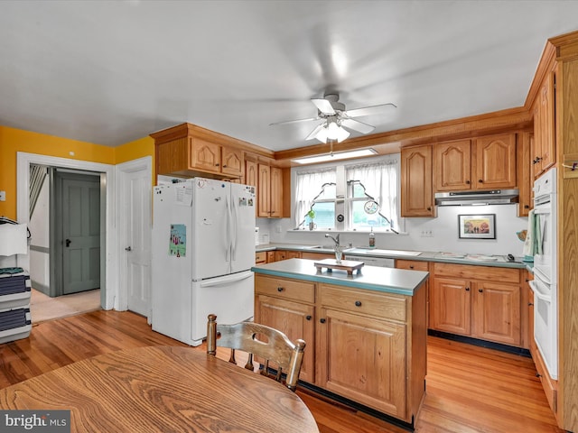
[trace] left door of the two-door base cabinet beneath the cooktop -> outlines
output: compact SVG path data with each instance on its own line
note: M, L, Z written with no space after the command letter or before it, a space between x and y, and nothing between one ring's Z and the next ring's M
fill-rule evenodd
M439 277L433 279L430 284L430 327L470 336L470 281Z

